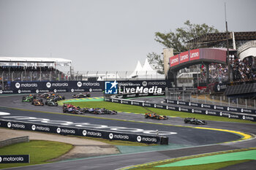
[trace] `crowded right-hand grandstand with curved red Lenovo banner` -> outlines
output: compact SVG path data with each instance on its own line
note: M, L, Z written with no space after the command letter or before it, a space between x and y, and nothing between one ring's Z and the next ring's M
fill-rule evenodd
M229 53L223 48L226 42L233 47ZM222 84L227 88L221 93L227 98L256 98L252 90L256 85L256 31L204 34L189 40L187 47L191 50L169 53L169 60L165 60L165 77L173 80L173 85L203 86L206 90L211 86L212 92L213 87Z

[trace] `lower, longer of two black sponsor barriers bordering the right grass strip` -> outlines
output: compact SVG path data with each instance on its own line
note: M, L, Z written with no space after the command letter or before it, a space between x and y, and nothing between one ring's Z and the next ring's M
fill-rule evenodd
M191 113L197 113L201 115L214 115L214 116L220 116L220 117L228 117L228 118L235 118L235 119L241 119L241 120L251 120L256 121L256 115L247 115L247 114L236 114L236 113L230 113L225 111L211 111L206 108L185 108L185 107L173 107L168 106L165 104L154 104L146 101L134 101L134 100L128 100L123 98L105 98L105 101L113 102L113 103L119 103L119 104L129 104L129 105L135 105L140 107L154 107L158 109L169 109L169 110L175 110L178 112L191 112ZM210 109L210 108L209 108Z

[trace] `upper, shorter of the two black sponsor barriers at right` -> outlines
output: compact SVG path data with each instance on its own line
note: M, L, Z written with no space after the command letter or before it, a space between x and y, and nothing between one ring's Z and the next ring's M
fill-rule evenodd
M194 103L194 102L188 102L188 101L176 101L176 100L170 100L170 99L166 99L166 98L165 98L165 102L167 104L178 104L178 105L184 105L184 106L189 106L189 107L200 107L200 108L206 108L206 109L214 109L214 110L220 110L220 111L239 112L239 113L256 115L256 109L245 109L245 108L238 108L238 107L223 107L223 106L212 105L212 104L200 104L200 103Z

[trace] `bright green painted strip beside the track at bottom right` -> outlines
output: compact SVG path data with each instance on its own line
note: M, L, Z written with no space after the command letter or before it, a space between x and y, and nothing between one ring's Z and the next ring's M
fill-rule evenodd
M201 158L192 158L184 161L177 161L174 163L167 163L157 168L173 167L173 166L195 166L208 163L220 163L226 161L241 161L241 160L256 160L256 150L248 150L243 152L232 152L220 155L211 155Z

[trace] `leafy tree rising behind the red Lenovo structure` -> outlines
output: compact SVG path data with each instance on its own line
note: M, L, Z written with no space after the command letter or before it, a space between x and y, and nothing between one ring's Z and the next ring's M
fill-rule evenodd
M167 33L155 33L155 40L167 48L173 48L174 53L181 53L189 50L186 42L190 39L195 39L198 36L208 33L219 32L214 26L203 24L192 24L189 20L184 23L184 27L176 28L176 32L170 31ZM157 53L148 53L148 62L151 64L161 64L155 66L163 69L163 58L159 57ZM160 59L161 58L161 59ZM159 61L162 60L162 61Z

